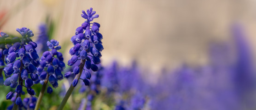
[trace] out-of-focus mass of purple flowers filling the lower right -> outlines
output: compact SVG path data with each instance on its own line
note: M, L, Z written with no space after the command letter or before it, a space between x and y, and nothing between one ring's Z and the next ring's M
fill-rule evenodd
M115 96L115 110L145 107L152 110L253 110L256 108L253 56L242 28L235 25L232 29L234 43L209 46L209 64L184 64L172 71L163 69L152 83L146 81L152 79L143 77L136 64L119 67L114 62L105 67L102 89L107 88L109 98Z

